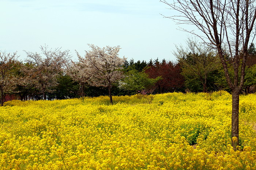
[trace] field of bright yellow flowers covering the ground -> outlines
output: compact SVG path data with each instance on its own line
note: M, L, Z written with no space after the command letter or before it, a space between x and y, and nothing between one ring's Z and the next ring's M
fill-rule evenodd
M26 101L0 107L0 169L256 169L256 94L168 93Z

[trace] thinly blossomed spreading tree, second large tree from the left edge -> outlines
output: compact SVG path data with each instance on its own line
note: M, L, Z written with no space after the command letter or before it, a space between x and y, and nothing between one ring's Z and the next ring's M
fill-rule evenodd
M48 46L41 46L40 49L45 58L37 52L26 52L26 62L33 65L26 74L36 81L36 87L46 100L45 92L51 92L51 88L57 85L56 78L68 62L70 55L68 50L61 51L60 48L48 50Z

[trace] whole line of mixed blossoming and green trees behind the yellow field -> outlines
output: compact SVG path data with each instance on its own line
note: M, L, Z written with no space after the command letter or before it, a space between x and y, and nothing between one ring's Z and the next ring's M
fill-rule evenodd
M230 91L217 53L195 41L177 47L176 61L134 61L119 58L120 47L90 45L85 56L72 61L68 50L49 49L17 53L0 51L1 105L9 99L68 99L83 96L157 94L165 92ZM246 61L244 92L255 92L256 49L252 43ZM229 55L226 55L227 59ZM231 62L230 62L231 63ZM231 65L230 65L231 69Z

